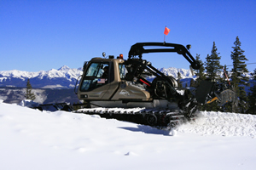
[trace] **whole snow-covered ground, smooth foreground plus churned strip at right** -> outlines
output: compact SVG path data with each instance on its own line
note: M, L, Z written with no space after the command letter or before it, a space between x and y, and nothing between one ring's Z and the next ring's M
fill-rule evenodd
M255 169L256 116L199 115L168 132L0 100L0 169Z

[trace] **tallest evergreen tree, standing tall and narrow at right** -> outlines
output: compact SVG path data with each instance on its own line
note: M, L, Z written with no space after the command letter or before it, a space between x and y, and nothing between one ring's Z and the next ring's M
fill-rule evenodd
M244 113L247 110L247 94L245 86L248 86L249 81L249 78L245 76L245 73L248 72L245 61L248 59L243 54L244 50L241 49L241 42L238 37L236 37L234 44L235 47L232 47L234 50L231 52L231 59L233 60L231 83L240 100L240 105L236 107L235 111Z

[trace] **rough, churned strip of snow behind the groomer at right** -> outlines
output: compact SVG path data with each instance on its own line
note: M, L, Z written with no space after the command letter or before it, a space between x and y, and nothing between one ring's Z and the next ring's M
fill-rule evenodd
M199 133L201 135L217 134L222 136L256 136L256 116L201 111L195 122L184 124L178 131Z

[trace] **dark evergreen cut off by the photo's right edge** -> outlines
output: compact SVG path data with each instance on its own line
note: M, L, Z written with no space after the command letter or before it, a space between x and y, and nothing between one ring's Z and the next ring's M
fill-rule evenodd
M256 69L254 70L252 76L254 82L248 94L249 109L247 112L256 115Z

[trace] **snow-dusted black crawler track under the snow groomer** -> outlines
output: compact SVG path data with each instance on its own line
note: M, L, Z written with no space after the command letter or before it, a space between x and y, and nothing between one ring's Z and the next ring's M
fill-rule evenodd
M166 109L145 109L145 108L90 108L79 109L76 113L88 115L99 115L108 119L119 121L135 122L137 124L149 125L152 127L175 127L186 122L186 118L178 111Z

